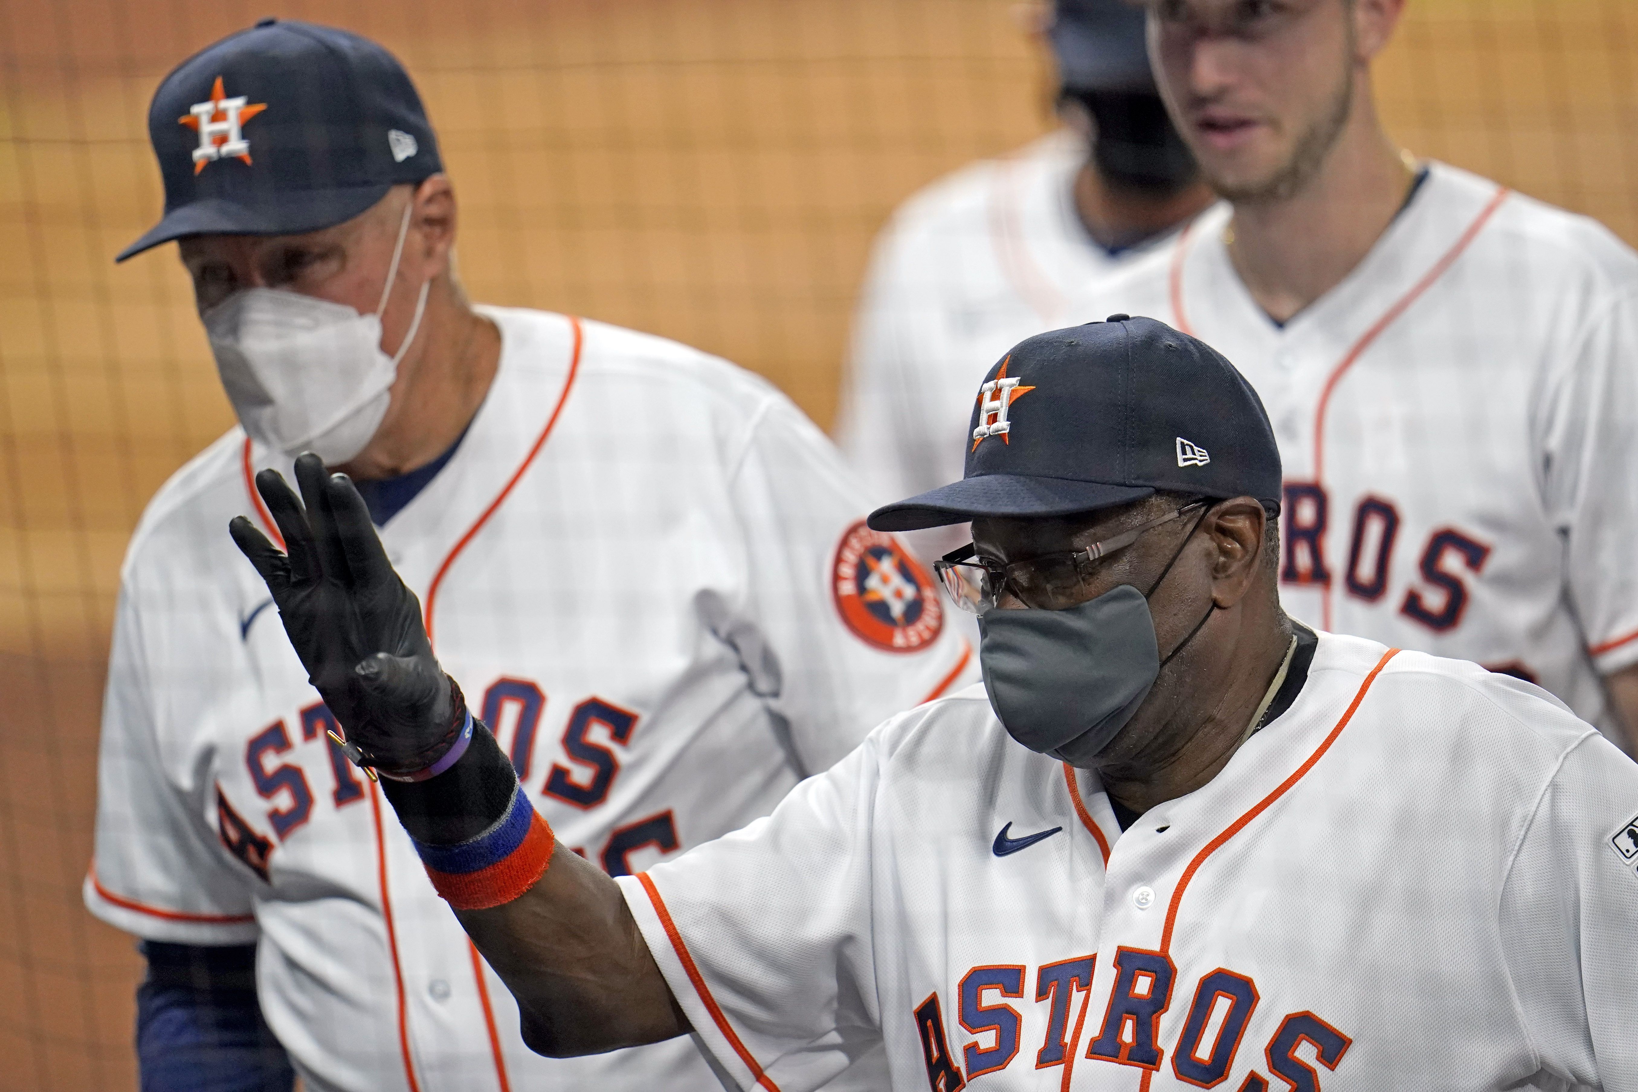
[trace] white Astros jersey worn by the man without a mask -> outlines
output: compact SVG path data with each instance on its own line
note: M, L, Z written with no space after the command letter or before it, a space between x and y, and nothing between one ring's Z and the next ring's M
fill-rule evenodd
M1607 725L1599 676L1638 663L1638 255L1432 164L1281 327L1230 264L1228 214L1093 285L1083 314L1170 323L1261 395L1286 609L1528 678Z

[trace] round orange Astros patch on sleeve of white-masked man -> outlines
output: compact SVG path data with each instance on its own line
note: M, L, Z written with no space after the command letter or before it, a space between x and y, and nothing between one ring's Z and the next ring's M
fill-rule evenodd
M932 580L893 535L858 521L830 566L837 614L853 635L885 652L917 652L939 639L943 604Z

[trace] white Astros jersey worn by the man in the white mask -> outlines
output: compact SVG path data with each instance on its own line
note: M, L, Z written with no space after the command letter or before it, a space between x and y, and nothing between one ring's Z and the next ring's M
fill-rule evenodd
M495 383L382 540L562 845L639 871L965 684L927 575L863 527L839 455L785 396L655 337L483 313ZM90 909L156 940L257 941L262 1009L310 1089L716 1089L686 1040L524 1048L391 807L326 740L228 537L241 512L265 526L260 465L228 434L131 542Z

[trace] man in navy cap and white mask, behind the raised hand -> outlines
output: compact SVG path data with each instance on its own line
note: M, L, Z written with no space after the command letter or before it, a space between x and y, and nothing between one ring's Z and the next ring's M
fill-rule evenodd
M436 134L375 43L264 20L165 77L149 134L165 216L120 257L177 241L242 429L165 483L121 573L85 900L144 938L143 1087L288 1092L290 1061L310 1092L719 1087L688 1040L523 1045L382 820L418 778L347 761L228 521L272 529L252 478L298 452L352 475L473 688L465 738L493 729L608 874L765 815L965 684L927 575L757 377L472 306Z

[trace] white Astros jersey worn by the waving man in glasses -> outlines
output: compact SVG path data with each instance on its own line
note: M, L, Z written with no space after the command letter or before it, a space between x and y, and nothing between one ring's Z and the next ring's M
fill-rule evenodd
M973 686L619 881L732 1087L1638 1089L1638 766L1546 691L1319 635L1122 832Z

